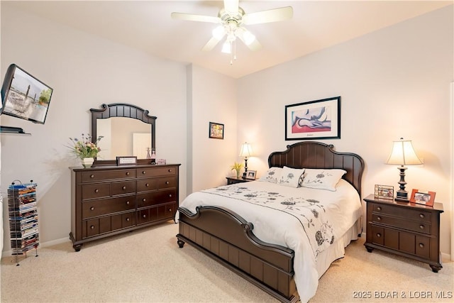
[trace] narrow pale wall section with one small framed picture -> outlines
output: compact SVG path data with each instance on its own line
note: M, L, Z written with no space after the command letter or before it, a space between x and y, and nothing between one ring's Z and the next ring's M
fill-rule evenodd
M191 109L188 141L189 179L187 192L226 184L233 175L230 166L240 152L237 145L236 81L202 67L188 69L191 85L188 97ZM238 109L240 110L240 109ZM224 125L224 138L209 138L209 122Z

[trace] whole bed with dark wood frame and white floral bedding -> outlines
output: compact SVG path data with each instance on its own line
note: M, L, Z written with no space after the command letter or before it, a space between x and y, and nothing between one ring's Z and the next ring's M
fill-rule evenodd
M175 216L177 243L194 246L281 302L307 302L319 277L361 233L365 165L359 155L307 141L271 153L268 165L265 175L279 173L281 182L261 177L189 194ZM309 185L311 177L323 177L319 170L345 175L335 188L319 189ZM298 179L282 184L289 172Z

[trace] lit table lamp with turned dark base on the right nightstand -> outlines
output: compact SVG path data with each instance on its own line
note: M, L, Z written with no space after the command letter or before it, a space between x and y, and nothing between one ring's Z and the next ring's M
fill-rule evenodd
M400 171L399 190L396 193L394 200L401 202L409 202L408 192L405 190L405 165L419 165L423 162L416 155L413 145L410 140L400 138L399 141L393 141L392 151L386 164L400 165L397 169Z

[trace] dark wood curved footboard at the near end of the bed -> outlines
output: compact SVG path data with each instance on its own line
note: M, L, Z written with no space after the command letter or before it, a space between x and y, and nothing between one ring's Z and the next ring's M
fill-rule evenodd
M180 248L189 243L281 302L297 302L293 250L260 241L252 224L222 207L178 211Z

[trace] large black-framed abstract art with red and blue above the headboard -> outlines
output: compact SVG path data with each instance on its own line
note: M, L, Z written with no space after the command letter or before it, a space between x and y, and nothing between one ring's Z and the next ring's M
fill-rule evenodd
M341 138L341 97L285 106L285 140Z

